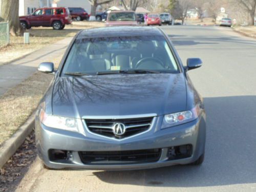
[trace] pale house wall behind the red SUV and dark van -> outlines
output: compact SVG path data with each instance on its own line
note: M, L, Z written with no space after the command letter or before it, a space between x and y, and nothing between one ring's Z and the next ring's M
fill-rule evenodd
M91 13L92 5L88 0L59 0L52 4L53 7L81 7Z

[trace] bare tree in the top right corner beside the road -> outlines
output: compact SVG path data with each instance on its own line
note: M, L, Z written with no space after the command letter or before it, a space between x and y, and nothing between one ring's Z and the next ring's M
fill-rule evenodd
M233 3L241 5L250 15L250 24L254 24L254 16L256 14L256 0L233 0Z

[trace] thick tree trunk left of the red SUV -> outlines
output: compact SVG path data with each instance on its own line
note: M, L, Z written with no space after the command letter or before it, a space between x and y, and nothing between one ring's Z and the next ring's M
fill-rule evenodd
M10 33L13 36L23 33L18 17L19 1L18 0L2 0L1 17L7 22L9 21Z

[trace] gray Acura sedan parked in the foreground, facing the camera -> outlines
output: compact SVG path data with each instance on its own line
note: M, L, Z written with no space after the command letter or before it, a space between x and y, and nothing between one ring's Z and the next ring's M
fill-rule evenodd
M203 99L158 28L79 32L36 113L36 145L46 168L144 169L204 160Z

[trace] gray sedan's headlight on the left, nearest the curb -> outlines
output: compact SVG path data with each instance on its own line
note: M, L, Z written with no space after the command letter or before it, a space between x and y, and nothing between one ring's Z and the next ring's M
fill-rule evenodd
M77 132L77 122L74 118L48 115L44 110L40 111L40 121L42 124L60 130Z

